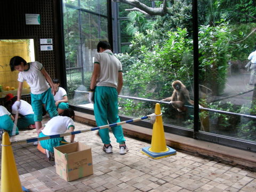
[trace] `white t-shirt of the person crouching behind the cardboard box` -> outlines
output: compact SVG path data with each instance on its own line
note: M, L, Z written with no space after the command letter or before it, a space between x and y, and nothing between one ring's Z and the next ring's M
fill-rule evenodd
M65 133L70 126L74 126L74 121L67 116L55 116L45 124L42 133L45 135L54 135Z

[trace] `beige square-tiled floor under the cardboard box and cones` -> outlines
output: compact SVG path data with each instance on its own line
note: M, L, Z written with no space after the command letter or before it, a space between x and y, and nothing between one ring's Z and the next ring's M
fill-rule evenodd
M76 123L76 129L90 128ZM34 137L33 131L21 131L12 139ZM95 131L76 135L75 140L91 146L94 174L66 182L55 173L54 162L33 145L14 146L14 156L22 186L30 191L256 191L256 173L233 167L185 151L161 159L141 153L150 143L127 139L129 152L119 155L113 134L113 154L102 151ZM2 191L3 192L3 191Z

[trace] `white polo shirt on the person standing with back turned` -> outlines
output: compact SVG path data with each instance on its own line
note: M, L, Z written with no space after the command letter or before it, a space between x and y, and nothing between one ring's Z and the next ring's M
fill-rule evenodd
M117 88L118 72L122 71L122 63L110 51L106 50L97 53L94 63L100 65L100 75L97 79L96 86L110 86Z

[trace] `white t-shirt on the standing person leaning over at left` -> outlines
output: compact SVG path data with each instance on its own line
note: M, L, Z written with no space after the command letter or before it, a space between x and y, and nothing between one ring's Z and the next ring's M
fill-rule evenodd
M30 86L31 93L33 94L41 94L47 91L50 86L41 72L43 69L42 63L35 61L27 63L27 65L29 65L28 70L20 71L18 81L26 81Z

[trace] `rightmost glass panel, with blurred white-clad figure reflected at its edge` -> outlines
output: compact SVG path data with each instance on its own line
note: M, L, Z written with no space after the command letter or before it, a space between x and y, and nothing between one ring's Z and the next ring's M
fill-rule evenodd
M255 3L213 2L198 4L200 103L234 114L203 110L201 130L256 141L255 120L240 115L256 115L255 70L254 65L246 65L256 48Z

